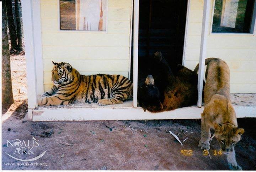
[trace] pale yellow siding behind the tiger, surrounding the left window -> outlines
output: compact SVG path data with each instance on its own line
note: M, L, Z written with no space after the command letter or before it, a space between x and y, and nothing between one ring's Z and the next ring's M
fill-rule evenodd
M107 32L59 30L59 0L41 0L44 90L54 62L68 62L81 74L128 77L132 0L108 0Z

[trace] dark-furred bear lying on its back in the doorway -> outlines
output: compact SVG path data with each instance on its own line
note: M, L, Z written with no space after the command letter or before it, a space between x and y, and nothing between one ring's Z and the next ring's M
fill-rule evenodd
M144 111L155 113L196 105L197 72L182 65L171 70L161 52L155 52L151 60L154 78L149 75L138 89L138 102Z

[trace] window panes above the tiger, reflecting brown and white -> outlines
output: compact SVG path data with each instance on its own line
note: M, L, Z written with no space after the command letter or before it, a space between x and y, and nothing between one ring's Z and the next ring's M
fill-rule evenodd
M60 0L60 30L106 31L107 0Z

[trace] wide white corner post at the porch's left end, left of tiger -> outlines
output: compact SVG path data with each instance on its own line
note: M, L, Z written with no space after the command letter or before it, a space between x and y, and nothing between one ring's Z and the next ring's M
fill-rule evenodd
M36 81L36 61L34 50L34 28L32 0L21 0L23 31L25 41L25 56L27 68L27 88L28 88L28 109L37 107L37 81ZM32 113L28 113L28 119L32 120Z

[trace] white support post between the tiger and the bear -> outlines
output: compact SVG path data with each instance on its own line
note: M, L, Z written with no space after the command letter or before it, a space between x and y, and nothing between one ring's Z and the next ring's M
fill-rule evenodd
M133 11L133 107L136 108L138 92L139 0L134 0Z

